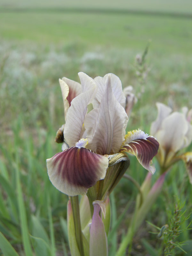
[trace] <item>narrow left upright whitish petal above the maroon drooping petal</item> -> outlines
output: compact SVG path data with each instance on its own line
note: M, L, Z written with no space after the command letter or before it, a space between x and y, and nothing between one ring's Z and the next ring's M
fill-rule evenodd
M90 86L87 86L86 89L84 85L82 85L83 92L71 101L71 106L67 112L63 134L69 147L75 146L76 141L81 138L87 105L96 89L94 83L89 85Z

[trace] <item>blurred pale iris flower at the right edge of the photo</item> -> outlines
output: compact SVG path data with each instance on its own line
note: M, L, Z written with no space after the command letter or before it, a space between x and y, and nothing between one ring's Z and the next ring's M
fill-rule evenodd
M192 152L181 153L192 141L192 125L190 124L191 113L186 107L182 113L173 112L163 103L156 103L158 115L151 124L150 133L159 142L157 154L158 162L163 171L178 160L184 160L190 183L192 183Z

